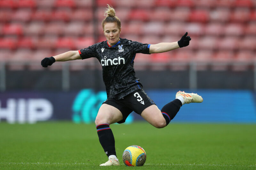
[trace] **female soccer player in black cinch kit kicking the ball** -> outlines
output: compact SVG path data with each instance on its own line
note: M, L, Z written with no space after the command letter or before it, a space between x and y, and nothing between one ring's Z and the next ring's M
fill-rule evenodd
M189 45L191 38L185 33L176 42L143 44L120 38L121 21L115 10L108 5L107 16L102 21L103 33L107 41L102 41L78 51L68 51L53 57L44 58L43 67L55 61L69 61L96 57L102 65L103 81L108 99L102 103L95 119L100 144L108 156L108 161L100 166L119 165L116 158L115 139L109 125L123 123L135 111L156 128L164 128L174 118L185 103L199 103L203 98L195 93L177 92L176 99L167 103L161 111L143 91L140 80L135 77L133 68L136 53L163 53ZM105 14L106 14L105 13Z

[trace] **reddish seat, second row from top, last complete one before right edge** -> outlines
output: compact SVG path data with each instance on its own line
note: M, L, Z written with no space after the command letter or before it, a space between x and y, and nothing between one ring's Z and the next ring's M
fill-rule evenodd
M231 14L231 21L233 22L247 22L250 19L250 9L236 8Z

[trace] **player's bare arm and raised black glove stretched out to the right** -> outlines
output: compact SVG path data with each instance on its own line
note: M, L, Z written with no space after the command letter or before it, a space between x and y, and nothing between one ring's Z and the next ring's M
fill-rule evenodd
M186 32L180 39L180 41L176 42L161 42L158 44L151 44L149 47L149 53L163 53L167 51L171 51L176 48L186 47L189 45L189 41L191 40L190 36L187 36L188 32Z

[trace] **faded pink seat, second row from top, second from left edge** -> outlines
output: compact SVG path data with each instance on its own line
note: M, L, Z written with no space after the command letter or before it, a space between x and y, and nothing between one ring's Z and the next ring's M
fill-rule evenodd
M31 19L32 11L30 9L18 9L12 15L12 21L28 22Z

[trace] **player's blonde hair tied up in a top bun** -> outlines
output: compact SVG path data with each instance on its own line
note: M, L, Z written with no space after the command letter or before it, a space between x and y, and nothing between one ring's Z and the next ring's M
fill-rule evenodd
M106 18L104 18L102 20L102 28L104 29L104 25L106 23L113 23L115 22L118 26L119 29L121 29L121 21L118 17L116 17L116 12L115 12L115 9L110 6L109 4L108 5L108 8L106 9L105 13L104 13L104 16L106 16Z

